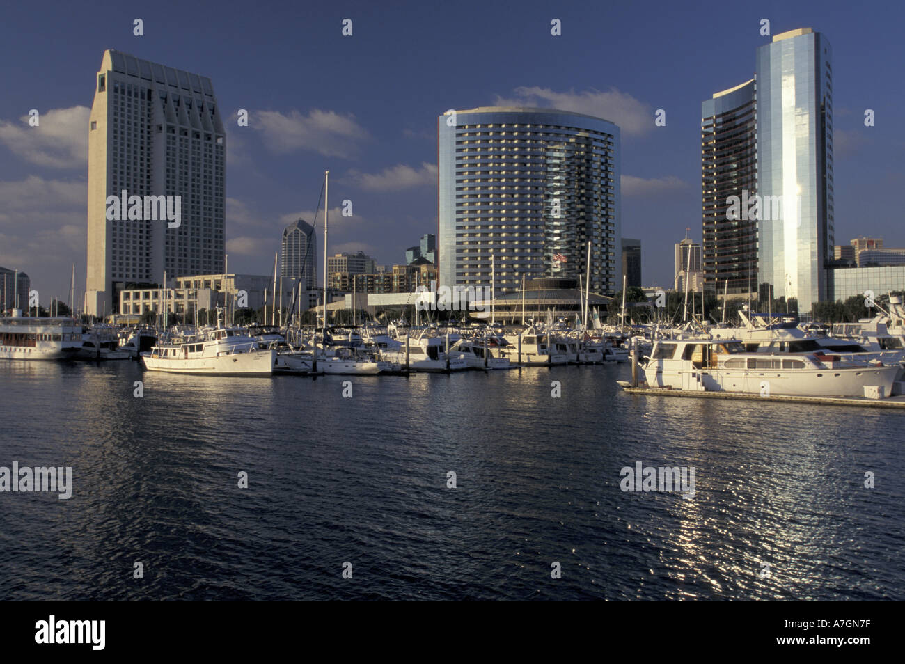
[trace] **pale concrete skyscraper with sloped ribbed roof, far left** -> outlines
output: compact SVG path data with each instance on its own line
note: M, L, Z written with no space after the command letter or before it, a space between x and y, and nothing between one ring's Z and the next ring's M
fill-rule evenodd
M118 311L126 284L161 284L165 271L222 272L225 134L210 79L105 51L88 132L86 312ZM178 225L149 218L149 197Z

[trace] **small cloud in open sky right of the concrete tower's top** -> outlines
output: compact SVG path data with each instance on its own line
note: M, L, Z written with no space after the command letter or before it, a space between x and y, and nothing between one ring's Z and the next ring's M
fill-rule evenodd
M310 150L324 157L350 159L357 155L357 144L368 138L352 115L332 110L298 110L284 114L275 110L252 111L249 126L262 132L264 145L272 152L286 154Z

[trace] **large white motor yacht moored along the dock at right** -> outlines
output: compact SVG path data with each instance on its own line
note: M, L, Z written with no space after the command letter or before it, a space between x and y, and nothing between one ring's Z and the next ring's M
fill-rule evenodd
M640 363L651 387L795 396L890 396L899 365L844 365L839 356L748 353L736 340L661 340ZM868 388L868 389L865 389Z

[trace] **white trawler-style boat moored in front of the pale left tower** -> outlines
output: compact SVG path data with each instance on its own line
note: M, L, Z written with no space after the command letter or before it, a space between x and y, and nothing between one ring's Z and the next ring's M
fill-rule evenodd
M261 348L241 327L203 330L198 337L181 337L142 353L149 371L176 374L271 375L277 352Z

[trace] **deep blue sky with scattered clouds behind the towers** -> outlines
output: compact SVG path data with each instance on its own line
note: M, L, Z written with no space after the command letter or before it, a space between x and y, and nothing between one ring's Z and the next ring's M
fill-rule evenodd
M833 46L836 243L867 234L905 246L901 3L381 5L7 4L0 266L28 272L42 302L66 299L73 262L84 289L88 116L101 57L114 48L213 81L227 132L230 271L271 273L282 228L312 220L325 170L329 254L405 262L405 248L437 229L437 117L518 103L620 126L623 236L642 241L644 285L671 286L673 243L686 229L700 242L700 102L754 75L755 50L770 40L762 19L771 34L812 27ZM41 113L37 128L30 109ZM338 213L345 200L350 217Z

